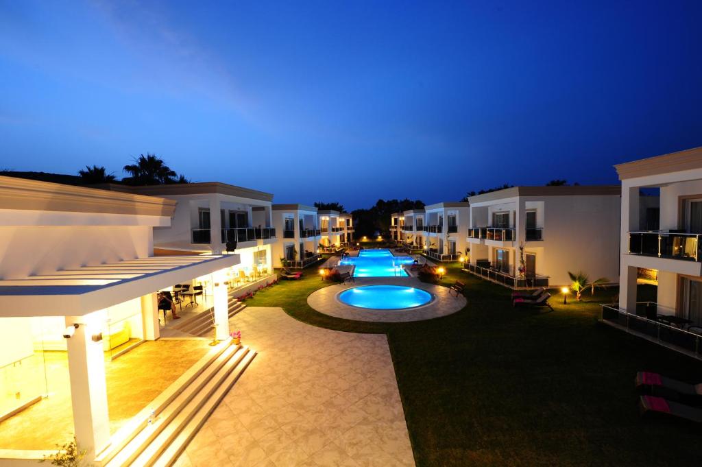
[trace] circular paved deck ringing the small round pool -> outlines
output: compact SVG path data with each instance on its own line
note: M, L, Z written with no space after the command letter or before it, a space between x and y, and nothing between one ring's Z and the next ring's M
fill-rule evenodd
M338 294L352 287L364 285L402 285L428 291L434 300L426 305L404 310L373 310L347 305L338 299ZM345 320L409 322L431 320L456 313L465 307L463 294L449 294L448 287L420 282L416 277L356 277L354 282L324 287L307 297L307 304L314 310Z

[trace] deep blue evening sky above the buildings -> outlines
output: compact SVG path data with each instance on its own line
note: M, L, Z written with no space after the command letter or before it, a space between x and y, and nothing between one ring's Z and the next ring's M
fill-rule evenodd
M581 3L0 0L0 168L354 209L702 145L702 1Z

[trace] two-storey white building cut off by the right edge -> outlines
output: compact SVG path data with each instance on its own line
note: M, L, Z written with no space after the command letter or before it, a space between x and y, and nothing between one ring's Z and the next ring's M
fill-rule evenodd
M621 286L618 306L602 310L604 322L700 357L702 147L615 168L622 183ZM640 293L642 272L657 277L655 300Z

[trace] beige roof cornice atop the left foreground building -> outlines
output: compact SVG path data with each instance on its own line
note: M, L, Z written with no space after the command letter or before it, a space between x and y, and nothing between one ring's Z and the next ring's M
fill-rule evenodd
M0 176L0 209L171 217L176 201Z

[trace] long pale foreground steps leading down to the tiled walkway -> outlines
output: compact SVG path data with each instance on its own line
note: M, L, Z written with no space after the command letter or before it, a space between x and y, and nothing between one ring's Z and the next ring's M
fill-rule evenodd
M95 465L171 466L256 356L231 342L208 353L115 433Z

